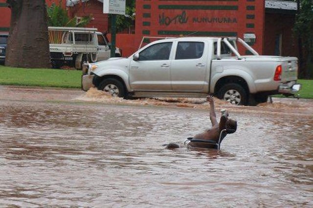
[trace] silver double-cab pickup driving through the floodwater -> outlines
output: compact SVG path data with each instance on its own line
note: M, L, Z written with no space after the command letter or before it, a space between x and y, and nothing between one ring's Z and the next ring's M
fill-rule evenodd
M239 44L240 43L240 44ZM243 47L252 55L238 52ZM128 58L85 64L82 89L113 96L205 97L255 105L268 95L294 95L298 60L260 56L240 38L182 37L151 42Z

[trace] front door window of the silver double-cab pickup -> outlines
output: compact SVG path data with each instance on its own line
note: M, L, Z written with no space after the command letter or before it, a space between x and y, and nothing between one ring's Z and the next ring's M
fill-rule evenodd
M172 42L162 42L151 45L139 53L139 61L168 60Z

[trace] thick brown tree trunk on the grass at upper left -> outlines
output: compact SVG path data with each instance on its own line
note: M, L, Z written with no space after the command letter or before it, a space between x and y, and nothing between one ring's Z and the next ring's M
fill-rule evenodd
M49 39L45 0L6 0L11 25L5 65L49 68Z

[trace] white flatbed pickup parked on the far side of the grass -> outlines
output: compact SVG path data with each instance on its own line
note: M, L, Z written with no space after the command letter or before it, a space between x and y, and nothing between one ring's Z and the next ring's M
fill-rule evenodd
M97 28L49 27L50 60L53 68L71 66L82 68L85 62L97 62L111 57L106 34ZM115 49L115 57L121 50Z

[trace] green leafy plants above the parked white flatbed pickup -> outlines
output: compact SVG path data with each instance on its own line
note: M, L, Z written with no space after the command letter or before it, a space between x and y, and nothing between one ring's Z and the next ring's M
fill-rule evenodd
M62 1L59 1L59 5L53 3L47 8L48 13L48 26L55 27L84 27L87 25L91 17L83 17L80 21L74 17L70 19L67 15L67 10L62 7Z

